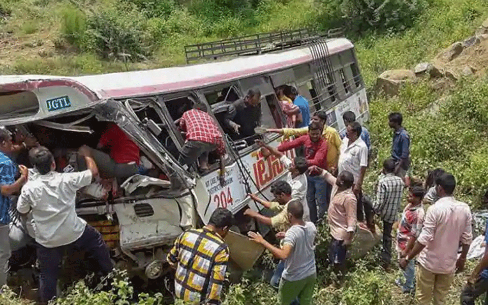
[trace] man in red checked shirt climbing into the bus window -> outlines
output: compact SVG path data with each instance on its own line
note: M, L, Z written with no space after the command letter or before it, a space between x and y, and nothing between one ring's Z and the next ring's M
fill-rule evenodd
M216 150L220 159L220 183L224 185L224 140L215 120L207 113L207 106L203 103L195 103L193 109L181 116L179 129L186 133L187 141L181 149L178 162L191 167L198 159L200 171L206 171L208 153Z

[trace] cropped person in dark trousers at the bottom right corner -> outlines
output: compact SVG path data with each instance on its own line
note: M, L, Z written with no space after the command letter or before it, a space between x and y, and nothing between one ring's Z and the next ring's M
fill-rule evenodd
M484 242L488 243L488 221L484 231ZM488 291L488 247L484 250L483 258L474 268L468 283L461 293L461 305L474 305L476 299ZM488 295L485 297L484 305L488 305Z

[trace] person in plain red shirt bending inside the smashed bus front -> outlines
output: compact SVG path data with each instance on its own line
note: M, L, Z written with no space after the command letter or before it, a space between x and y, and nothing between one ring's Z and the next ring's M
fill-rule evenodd
M105 176L117 178L120 182L139 173L139 147L115 123L106 125L97 149L86 145L82 147L89 148L100 172ZM109 154L100 150L104 148L108 149Z

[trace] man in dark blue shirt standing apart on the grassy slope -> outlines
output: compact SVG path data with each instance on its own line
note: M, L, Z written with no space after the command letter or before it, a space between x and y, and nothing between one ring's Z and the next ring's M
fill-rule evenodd
M388 115L388 125L393 129L391 159L395 161L395 175L404 178L410 167L410 136L402 127L403 117L400 112Z

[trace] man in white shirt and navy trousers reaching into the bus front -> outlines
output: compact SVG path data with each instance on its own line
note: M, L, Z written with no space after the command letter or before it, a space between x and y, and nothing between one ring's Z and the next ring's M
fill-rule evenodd
M97 165L90 151L80 148L87 170L74 173L55 172L56 164L46 147L29 152L29 160L38 175L22 188L17 210L21 214L32 212L37 257L41 265L41 301L48 302L56 296L59 264L65 247L82 249L92 254L106 275L112 268L110 254L101 234L76 215L76 191L92 183L98 175Z

